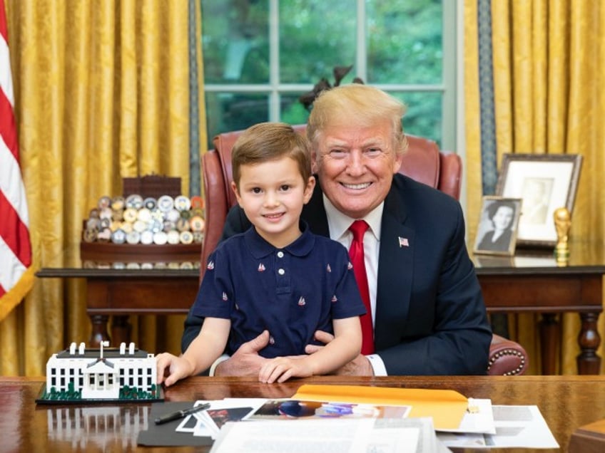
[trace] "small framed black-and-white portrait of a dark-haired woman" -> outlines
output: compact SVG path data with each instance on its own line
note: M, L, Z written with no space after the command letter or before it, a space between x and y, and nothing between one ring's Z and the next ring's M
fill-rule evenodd
M484 196L474 242L475 255L514 255L522 199Z

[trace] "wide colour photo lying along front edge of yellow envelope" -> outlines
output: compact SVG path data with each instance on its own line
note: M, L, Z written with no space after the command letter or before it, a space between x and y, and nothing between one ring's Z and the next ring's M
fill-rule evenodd
M309 400L268 400L250 420L288 420L300 418L405 418L411 406L375 405Z

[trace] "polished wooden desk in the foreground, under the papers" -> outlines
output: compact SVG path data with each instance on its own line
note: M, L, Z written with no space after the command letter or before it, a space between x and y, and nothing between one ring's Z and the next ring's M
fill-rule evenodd
M141 429L150 422L148 403L121 405L38 405L44 380L0 377L0 451L192 452L192 448L137 447ZM467 397L490 398L494 405L537 405L564 452L575 429L605 418L605 377L469 376L469 377L313 377L284 384L260 384L253 378L191 377L166 391L167 401L218 400L223 397L290 397L303 383L442 388ZM195 451L208 451L196 447ZM477 450L469 450L476 452ZM490 452L519 452L494 449Z

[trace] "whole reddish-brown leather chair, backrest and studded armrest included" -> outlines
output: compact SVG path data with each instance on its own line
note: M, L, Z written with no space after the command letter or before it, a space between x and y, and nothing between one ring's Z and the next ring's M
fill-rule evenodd
M294 126L300 133L305 125ZM237 201L231 190L231 149L241 130L225 132L214 137L214 150L202 156L205 198L205 235L202 245L200 279L210 252L215 249L225 225L228 210ZM407 135L409 147L400 173L435 187L459 199L462 177L462 160L453 152L439 151L437 143L422 137ZM527 353L522 345L494 335L489 348L489 375L521 375L527 369Z

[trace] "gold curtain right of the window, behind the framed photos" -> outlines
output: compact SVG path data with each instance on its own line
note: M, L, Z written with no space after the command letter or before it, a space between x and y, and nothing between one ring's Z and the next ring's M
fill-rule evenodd
M477 0L464 1L467 120L467 220L474 237L482 192ZM497 161L508 152L584 158L571 236L603 241L605 189L605 4L600 0L492 0L492 57ZM539 374L535 316L511 317L512 336ZM579 318L560 317L559 374L576 374ZM605 319L599 320L604 336ZM604 355L601 341L599 355ZM601 373L605 363L601 363Z

